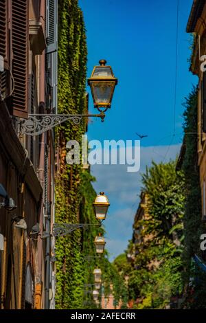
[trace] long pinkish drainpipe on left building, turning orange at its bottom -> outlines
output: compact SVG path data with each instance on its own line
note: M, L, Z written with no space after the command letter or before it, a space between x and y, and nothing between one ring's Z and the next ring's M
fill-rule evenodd
M40 4L40 17L39 21L42 23L43 30L45 31L45 0L41 0ZM45 113L45 51L39 56L39 106L41 111L39 113ZM44 163L45 163L45 133L40 137L39 141L40 155L38 165L38 178L41 182L42 188L44 188ZM38 234L37 241L37 271L35 281L35 309L42 308L42 267L43 267L43 194L41 196L40 203L40 227L41 232Z

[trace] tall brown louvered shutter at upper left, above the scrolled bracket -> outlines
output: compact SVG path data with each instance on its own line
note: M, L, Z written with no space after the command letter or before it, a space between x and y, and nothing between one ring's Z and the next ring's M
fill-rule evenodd
M28 0L12 0L12 114L19 118L28 117L28 40Z

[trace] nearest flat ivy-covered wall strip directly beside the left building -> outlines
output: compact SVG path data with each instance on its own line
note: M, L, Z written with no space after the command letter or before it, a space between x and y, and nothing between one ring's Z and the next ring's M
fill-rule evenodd
M58 113L82 113L85 109L87 44L84 21L78 1L58 1ZM66 143L80 142L85 131L80 125L65 122L58 127L56 147L59 155L56 172L56 223L77 223L80 217L82 166L66 163ZM85 175L89 177L88 175ZM90 181L88 181L88 185ZM87 197L85 197L87 199ZM56 240L56 308L82 307L84 268L81 231Z

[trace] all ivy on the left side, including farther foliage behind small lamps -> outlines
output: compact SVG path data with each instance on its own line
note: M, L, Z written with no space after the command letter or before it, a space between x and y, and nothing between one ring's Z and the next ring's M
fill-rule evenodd
M87 43L82 11L77 0L58 0L58 113L85 113L87 74ZM70 122L56 131L56 223L90 223L97 225L93 211L96 193L91 184L95 179L81 165L66 163L66 144L81 142L86 131L85 120ZM106 258L95 258L95 236L104 229L90 225L89 230L76 230L56 239L56 308L95 308L92 288L93 269L102 269L104 293L113 284L116 300L126 306L124 284L117 270ZM91 256L90 260L85 257Z

